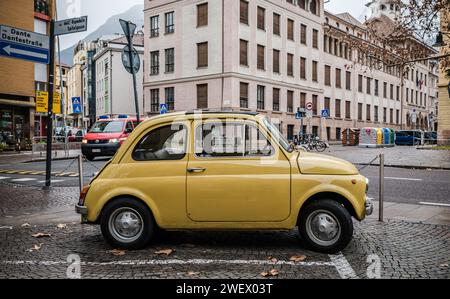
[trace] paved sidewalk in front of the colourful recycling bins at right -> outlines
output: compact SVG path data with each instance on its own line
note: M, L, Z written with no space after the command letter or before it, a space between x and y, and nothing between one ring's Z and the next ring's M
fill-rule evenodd
M361 165L369 163L380 154L384 154L385 166L450 170L450 151L418 150L411 146L359 148L332 145L325 151L325 154ZM373 164L378 165L379 161L377 160Z

